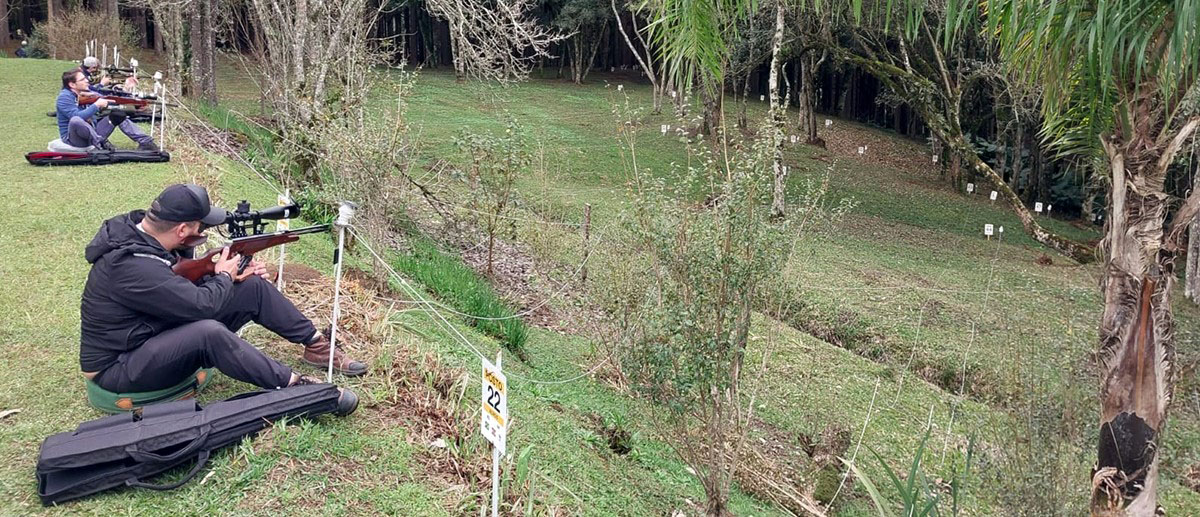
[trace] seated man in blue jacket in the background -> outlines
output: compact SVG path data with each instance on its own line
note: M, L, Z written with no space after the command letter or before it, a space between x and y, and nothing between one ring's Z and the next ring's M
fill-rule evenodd
M62 73L62 90L54 102L54 110L59 119L59 138L62 143L76 148L96 146L108 151L115 150L108 142L113 130L121 128L121 132L138 144L139 151L157 151L154 139L142 132L136 124L126 120L122 110L113 110L100 121L96 121L96 113L107 108L107 100L98 100L86 108L79 107L79 94L89 91L88 77L79 70L73 68Z

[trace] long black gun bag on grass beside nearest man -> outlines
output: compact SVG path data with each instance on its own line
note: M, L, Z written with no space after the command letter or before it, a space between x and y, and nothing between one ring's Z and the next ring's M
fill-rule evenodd
M242 393L202 408L196 401L146 405L136 413L84 422L42 443L37 495L52 505L119 487L169 491L204 468L209 455L283 417L312 417L337 409L332 384ZM181 480L144 480L196 461Z

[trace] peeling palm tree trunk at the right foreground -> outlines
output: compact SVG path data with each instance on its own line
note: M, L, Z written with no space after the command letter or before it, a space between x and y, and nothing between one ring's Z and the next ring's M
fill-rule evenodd
M1153 88L1153 86L1151 86ZM1140 92L1139 92L1140 94ZM1153 121L1134 104L1135 120ZM1151 517L1158 509L1158 447L1175 385L1175 256L1200 206L1193 191L1169 227L1166 169L1200 118L1169 142L1139 122L1127 138L1102 140L1112 174L1100 317L1100 433L1092 515ZM1150 144L1150 145L1147 145ZM1164 230L1166 228L1166 230Z

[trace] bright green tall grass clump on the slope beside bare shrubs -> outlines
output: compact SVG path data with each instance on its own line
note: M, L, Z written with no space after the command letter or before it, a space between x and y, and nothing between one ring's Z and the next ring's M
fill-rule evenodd
M412 252L400 256L394 266L408 277L424 283L455 311L470 314L467 323L499 339L505 348L528 361L524 349L529 329L486 279L480 277L458 257L438 250L428 239L413 241Z

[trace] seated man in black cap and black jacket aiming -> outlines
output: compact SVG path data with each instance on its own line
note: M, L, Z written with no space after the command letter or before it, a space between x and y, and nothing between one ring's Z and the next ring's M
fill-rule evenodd
M256 321L293 343L305 344L304 361L324 365L329 339L318 332L266 279L266 267L251 261L238 271L240 256L222 251L216 273L198 283L175 275L179 258L192 258L204 230L226 220L196 185L172 185L150 205L101 224L85 257L91 272L80 305L79 366L84 375L113 392L144 392L179 384L200 367L272 389L319 383L268 357L235 331ZM342 350L335 367L348 375L366 366ZM340 413L358 397L343 390Z

